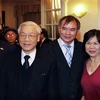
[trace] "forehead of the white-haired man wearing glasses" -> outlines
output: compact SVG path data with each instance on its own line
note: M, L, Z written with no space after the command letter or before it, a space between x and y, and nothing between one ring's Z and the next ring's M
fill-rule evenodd
M37 33L36 28L31 25L23 26L20 30L23 33Z

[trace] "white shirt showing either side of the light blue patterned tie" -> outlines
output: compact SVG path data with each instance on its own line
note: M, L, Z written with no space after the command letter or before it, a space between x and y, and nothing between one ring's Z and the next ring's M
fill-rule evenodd
M61 50L62 50L62 52L63 52L63 54L64 54L64 56L65 56L65 55L66 55L66 48L64 47L64 45L67 45L67 44L65 44L61 38L59 38L57 41L58 41L59 46L60 46L60 48L61 48ZM71 48L70 48L70 50L71 50L71 55L72 55L72 57L73 57L73 52L74 52L74 41L70 44L70 46L71 46Z

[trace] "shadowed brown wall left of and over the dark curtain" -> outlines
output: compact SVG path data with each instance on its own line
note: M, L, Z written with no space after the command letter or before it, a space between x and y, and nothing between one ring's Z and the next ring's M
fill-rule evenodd
M16 17L14 16L14 6L24 4L37 4L39 2L2 2L2 10L5 11L5 25L16 28Z

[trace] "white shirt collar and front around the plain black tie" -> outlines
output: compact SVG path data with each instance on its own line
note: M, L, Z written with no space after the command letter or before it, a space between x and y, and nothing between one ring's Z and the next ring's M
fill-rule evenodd
M31 66L31 64L32 64L33 61L35 60L36 49L34 49L34 51L33 51L32 53L30 53L30 54L25 54L25 52L22 50L22 52L21 52L21 63L22 63L22 65L23 65L24 62L25 62L25 59L24 59L24 56L25 56L25 55L29 55L29 56L30 56L30 58L28 59L28 61L29 61L29 66Z

